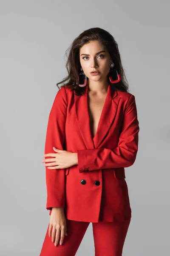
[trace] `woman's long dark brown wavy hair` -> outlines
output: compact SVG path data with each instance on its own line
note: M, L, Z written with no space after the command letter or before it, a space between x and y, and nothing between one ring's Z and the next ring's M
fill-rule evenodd
M79 49L90 41L99 41L108 49L111 59L115 64L114 68L121 77L121 80L118 83L111 84L111 86L116 90L127 92L129 85L125 76L125 71L122 67L118 44L108 31L99 27L94 27L83 31L77 38L74 39L71 46L66 50L66 55L69 50L67 57L68 59L65 65L68 71L68 76L57 83L57 87L59 88L58 84L64 83L62 86L75 90L77 95L84 94L85 87L79 87L77 84L81 67L79 60ZM110 81L109 78L108 81Z

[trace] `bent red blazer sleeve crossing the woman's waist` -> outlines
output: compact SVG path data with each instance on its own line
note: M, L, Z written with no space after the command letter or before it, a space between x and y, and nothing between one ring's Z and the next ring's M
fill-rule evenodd
M77 150L79 173L133 165L138 151L138 134L139 122L135 96L131 94L125 107L118 146L113 150L108 148Z

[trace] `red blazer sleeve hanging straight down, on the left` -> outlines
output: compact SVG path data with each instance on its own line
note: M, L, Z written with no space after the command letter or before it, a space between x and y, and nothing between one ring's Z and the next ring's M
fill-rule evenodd
M53 147L63 150L65 142L65 121L67 116L67 95L61 87L55 96L49 117L45 139L45 154L56 153ZM53 157L45 157L45 159ZM45 166L47 204L46 209L65 207L65 169L48 169Z

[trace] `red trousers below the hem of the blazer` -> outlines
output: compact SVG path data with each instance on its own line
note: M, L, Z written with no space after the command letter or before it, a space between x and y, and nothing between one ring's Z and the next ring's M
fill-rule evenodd
M62 245L58 242L57 246L48 236L47 229L40 256L75 256L89 224L90 222L66 219L68 236L65 236ZM92 222L95 256L122 256L129 224L130 219L119 222Z

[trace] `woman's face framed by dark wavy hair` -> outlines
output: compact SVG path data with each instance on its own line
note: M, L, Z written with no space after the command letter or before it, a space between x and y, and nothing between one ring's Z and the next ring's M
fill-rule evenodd
M90 41L84 44L79 51L80 64L83 72L92 81L105 80L109 71L111 56L107 48L99 41ZM91 71L97 70L100 73L91 75Z

